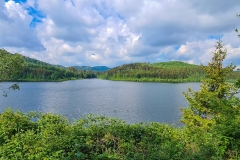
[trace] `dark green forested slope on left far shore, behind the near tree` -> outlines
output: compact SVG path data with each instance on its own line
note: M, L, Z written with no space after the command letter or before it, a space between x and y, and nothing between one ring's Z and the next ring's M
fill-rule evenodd
M20 73L14 74L14 77L1 78L2 81L65 81L96 78L96 73L91 70L77 70L74 67L56 66L19 54L12 54L4 49L0 49L1 55L12 57L18 55L24 61L23 70Z

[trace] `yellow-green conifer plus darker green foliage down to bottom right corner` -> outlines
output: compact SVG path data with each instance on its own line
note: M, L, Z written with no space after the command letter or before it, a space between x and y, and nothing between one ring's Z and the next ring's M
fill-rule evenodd
M197 137L194 142L202 143L202 135L209 135L221 149L220 156L229 156L231 151L240 152L240 100L236 96L238 88L226 82L227 74L234 69L232 64L223 67L226 53L218 41L212 61L202 66L207 79L203 80L200 91L189 89L184 93L189 107L182 109L187 134Z

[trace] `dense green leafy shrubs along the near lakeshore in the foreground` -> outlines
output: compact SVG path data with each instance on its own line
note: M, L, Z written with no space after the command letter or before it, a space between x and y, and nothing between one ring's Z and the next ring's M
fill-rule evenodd
M126 124L94 115L69 122L61 115L10 108L0 114L0 159L4 160L223 159L223 143L214 133L191 135L156 122Z

